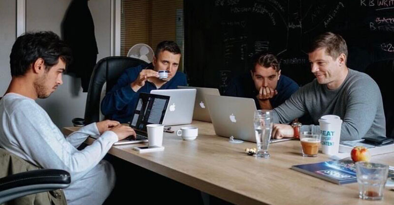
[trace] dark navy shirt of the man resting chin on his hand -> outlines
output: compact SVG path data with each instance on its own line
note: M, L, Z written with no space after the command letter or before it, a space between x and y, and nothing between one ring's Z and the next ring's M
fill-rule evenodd
M278 84L276 86L276 90L278 94L273 98L269 99L272 108L279 106L284 103L287 99L292 96L298 90L299 86L297 83L292 80L290 77L280 75ZM259 91L256 90L255 83L253 82L252 76L250 73L234 77L229 86L227 87L224 95L233 96L233 97L241 97L241 98L253 98L256 103L256 108L261 109L259 100L256 98Z

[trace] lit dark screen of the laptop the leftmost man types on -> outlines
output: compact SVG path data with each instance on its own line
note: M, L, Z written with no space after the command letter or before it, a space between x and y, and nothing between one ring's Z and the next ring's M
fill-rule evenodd
M146 125L162 124L169 99L169 96L140 93L130 127L146 132Z

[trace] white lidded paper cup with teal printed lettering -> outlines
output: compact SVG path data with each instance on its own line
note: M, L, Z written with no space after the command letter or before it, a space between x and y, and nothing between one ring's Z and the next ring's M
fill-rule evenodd
M322 153L338 154L342 120L336 115L325 115L319 119Z

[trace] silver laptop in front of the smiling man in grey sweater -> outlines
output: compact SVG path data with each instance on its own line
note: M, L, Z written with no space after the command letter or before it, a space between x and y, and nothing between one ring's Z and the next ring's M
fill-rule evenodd
M256 142L253 122L256 104L253 99L206 95L205 100L217 135ZM291 139L271 139L270 143Z

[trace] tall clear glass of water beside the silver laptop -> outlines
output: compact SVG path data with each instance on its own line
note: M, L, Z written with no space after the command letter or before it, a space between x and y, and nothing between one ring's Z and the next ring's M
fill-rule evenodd
M268 145L274 125L271 110L256 110L254 125L257 143L255 156L268 158Z

